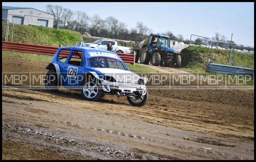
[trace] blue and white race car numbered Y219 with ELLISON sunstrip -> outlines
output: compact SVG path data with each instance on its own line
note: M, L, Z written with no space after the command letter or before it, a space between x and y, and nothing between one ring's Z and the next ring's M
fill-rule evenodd
M105 94L127 96L133 106L148 101L146 77L131 72L116 53L88 48L84 42L77 42L76 47L60 47L46 69L45 88L49 90L58 90L62 85L81 91L90 101Z

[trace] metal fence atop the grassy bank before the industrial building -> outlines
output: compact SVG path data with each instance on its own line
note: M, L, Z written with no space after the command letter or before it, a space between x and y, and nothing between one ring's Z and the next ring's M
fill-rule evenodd
M7 13L2 13L2 14L7 15L7 17L11 19L10 22L14 22L16 24L21 24L21 25L36 25L36 26L54 27L57 29L69 29L69 30L75 30L75 26L76 26L76 22L73 20L45 18L45 17L38 17L38 16L30 16L30 15L21 16L21 15L7 14ZM22 21L13 21L14 20L13 16L20 17ZM44 20L47 20L47 22L43 22Z

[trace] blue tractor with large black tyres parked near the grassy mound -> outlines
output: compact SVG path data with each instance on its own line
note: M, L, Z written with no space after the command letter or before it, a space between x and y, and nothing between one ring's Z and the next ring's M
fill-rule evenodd
M139 52L141 64L148 65L151 61L153 66L179 68L181 65L180 53L174 52L170 47L170 37L167 35L151 33L147 39L140 42L137 52ZM137 60L139 55L136 56Z

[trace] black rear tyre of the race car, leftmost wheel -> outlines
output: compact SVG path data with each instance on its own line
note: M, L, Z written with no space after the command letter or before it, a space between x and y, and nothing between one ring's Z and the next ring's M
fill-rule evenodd
M44 80L45 89L55 92L60 89L57 73L55 69L51 69L46 73Z

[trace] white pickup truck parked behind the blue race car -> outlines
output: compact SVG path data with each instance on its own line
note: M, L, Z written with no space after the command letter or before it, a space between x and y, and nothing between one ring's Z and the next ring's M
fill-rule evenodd
M113 40L99 39L99 40L97 40L93 43L84 43L84 44L86 45L86 47L107 50L108 42L111 42L111 45L113 47L113 50L112 50L113 52L116 52L116 53L131 53L131 48L118 46L117 42L113 41Z

